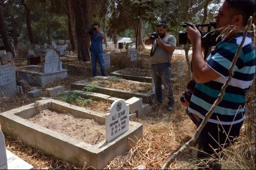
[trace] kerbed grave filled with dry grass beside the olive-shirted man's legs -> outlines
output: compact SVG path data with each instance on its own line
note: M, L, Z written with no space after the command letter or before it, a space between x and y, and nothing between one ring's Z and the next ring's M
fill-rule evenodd
M151 104L152 99L155 98L155 92L151 92L151 83L117 79L116 77L97 76L71 84L73 90L82 90L84 87L91 88L93 92L120 99L140 97L143 99L143 103L147 104Z

